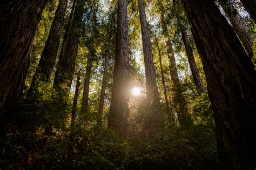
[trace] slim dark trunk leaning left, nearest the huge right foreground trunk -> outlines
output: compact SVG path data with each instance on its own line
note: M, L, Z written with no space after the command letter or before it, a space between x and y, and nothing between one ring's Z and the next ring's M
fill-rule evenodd
M183 39L183 44L185 46L185 50L187 53L187 59L188 63L190 64L190 70L192 72L192 77L194 80L194 84L196 85L197 89L199 89L201 92L206 92L202 83L202 80L200 78L200 74L196 65L196 61L194 60L193 50L189 43L187 31L185 28L185 25L183 24L184 21L180 15L180 12L178 10L178 2L177 0L173 0L173 7L176 13L176 18L178 21L179 30L181 32L181 37Z

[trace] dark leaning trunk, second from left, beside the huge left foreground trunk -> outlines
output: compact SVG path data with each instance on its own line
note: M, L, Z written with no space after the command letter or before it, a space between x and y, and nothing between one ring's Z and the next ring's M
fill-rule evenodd
M58 53L60 34L63 29L63 21L67 6L68 0L59 1L58 8L55 12L55 17L51 25L51 30L49 32L48 39L46 40L33 81L37 78L42 81L51 80L51 74Z

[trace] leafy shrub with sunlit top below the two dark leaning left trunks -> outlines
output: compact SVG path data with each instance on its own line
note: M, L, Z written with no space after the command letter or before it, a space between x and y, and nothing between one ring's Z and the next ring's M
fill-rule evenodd
M70 101L62 98L67 95L63 93L53 89L51 83L36 81L33 92L29 91L19 104L15 122L25 131L36 131L39 127L44 131L66 128Z

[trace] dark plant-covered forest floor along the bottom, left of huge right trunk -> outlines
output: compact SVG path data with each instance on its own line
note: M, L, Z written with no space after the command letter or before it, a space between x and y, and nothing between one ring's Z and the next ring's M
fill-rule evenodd
M46 134L16 127L0 138L0 168L217 169L213 128L166 130L154 138L119 138L102 128Z

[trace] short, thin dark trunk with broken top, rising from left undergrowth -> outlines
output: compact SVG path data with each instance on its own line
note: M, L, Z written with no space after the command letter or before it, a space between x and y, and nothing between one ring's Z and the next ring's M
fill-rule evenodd
M75 130L75 121L76 121L76 114L77 114L77 100L79 96L79 87L80 87L80 70L77 73L77 84L76 84L76 91L73 100L73 106L71 111L71 125L70 125L70 134L73 134Z

